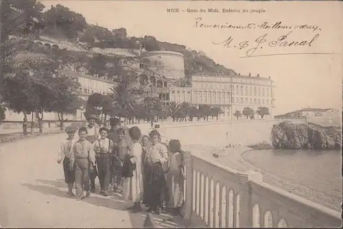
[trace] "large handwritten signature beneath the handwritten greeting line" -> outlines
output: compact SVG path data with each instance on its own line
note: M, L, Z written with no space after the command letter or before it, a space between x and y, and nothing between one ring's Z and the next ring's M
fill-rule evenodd
M234 38L232 36L226 38L226 40L220 41L219 43L215 43L212 41L213 45L222 45L225 48L239 48L239 49L248 49L246 51L246 57L252 57L257 55L256 51L258 49L263 49L264 45L268 45L268 47L298 47L298 46L307 46L311 47L314 42L318 39L319 34L314 35L312 38L307 40L288 40L289 35L292 34L292 32L289 32L286 35L280 36L276 40L268 40L269 34L263 34L262 36L259 36L254 41L241 41L239 43L236 43Z

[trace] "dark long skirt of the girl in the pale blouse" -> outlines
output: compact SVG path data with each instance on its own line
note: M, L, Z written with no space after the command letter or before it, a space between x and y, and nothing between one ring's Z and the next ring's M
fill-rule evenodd
M164 200L164 193L167 189L163 167L160 162L154 165L147 165L144 169L145 184L145 203L154 209L161 206Z

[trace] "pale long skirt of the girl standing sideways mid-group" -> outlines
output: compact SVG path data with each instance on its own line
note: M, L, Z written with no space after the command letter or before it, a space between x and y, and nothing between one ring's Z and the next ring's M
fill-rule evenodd
M143 195L143 178L137 169L133 171L132 178L123 178L123 198L132 202L141 202Z

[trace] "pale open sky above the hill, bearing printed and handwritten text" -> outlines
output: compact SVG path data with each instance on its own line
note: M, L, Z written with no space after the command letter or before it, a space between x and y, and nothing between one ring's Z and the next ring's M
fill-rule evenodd
M203 51L218 64L241 75L270 76L275 84L274 115L309 107L342 110L343 8L339 2L64 0L42 3L47 8L64 5L82 14L89 24L110 30L124 27L128 36L150 35L160 41ZM180 12L170 13L168 8L178 8ZM209 8L219 12L207 12ZM187 12L187 9L198 12ZM243 9L248 13L230 11ZM201 21L196 27L198 18ZM265 22L267 25L281 22L288 28L262 28ZM201 23L250 26L218 29L200 27ZM280 37L285 39L278 41ZM222 42L231 39L230 47L224 47ZM256 40L265 42L258 44ZM285 41L299 44L305 40L302 46L278 46L281 42L285 45ZM249 46L239 49L245 44ZM247 51L255 47L254 56L246 58Z

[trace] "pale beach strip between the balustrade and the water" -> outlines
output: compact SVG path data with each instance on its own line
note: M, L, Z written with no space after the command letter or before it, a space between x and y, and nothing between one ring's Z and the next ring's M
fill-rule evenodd
M259 144L257 144L259 145ZM275 176L270 171L265 171L261 168L252 165L250 162L244 159L244 154L255 150L255 148L263 149L263 147L268 147L265 143L261 143L259 146L251 145L250 147L245 147L243 145L232 145L231 147L217 147L217 146L204 146L204 145L185 145L185 150L202 156L206 160L219 162L222 165L235 169L239 172L247 172L248 169L251 171L257 171L263 174L263 182L266 182L272 186L275 186L279 189L283 189L294 195L298 195L312 202L316 202L322 206L326 206L333 210L341 210L342 202L337 200L330 195L325 193L320 193L314 189L309 189L300 184L294 184L290 180L285 178L279 178ZM267 149L270 149L269 147ZM213 156L217 154L217 156Z

